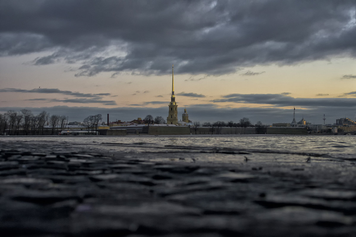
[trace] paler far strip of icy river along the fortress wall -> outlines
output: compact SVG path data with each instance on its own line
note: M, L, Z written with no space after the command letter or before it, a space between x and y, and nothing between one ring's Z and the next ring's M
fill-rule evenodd
M340 159L355 158L356 136L215 135L215 136L0 136L0 142L27 142L58 148L96 148L103 151L225 150L231 152L300 154ZM166 150L167 151L167 150ZM169 150L168 150L169 151Z

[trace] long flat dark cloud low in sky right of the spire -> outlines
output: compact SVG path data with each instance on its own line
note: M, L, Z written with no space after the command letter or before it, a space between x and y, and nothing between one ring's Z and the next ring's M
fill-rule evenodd
M354 92L345 93L353 95ZM283 94L229 94L221 96L223 99L211 100L211 102L234 102L245 104L262 104L271 106L340 106L354 107L356 98L294 98Z

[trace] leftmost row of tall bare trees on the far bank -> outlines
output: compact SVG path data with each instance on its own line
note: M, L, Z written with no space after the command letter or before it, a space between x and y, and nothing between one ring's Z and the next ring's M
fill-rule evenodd
M1 135L43 135L43 128L48 123L54 130L67 126L68 117L62 115L52 115L42 111L38 115L33 115L31 110L23 109L20 112L9 110L0 114L0 134ZM21 134L20 134L20 127Z

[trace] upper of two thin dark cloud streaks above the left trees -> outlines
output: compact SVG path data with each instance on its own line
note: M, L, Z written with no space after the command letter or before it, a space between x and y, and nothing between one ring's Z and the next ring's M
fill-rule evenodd
M0 92L21 92L21 93L43 93L43 94L63 94L63 95L72 95L75 97L93 97L100 98L101 96L109 96L110 93L99 93L99 94L84 94L80 92L73 91L62 91L59 89L49 89L49 88L36 88L32 90L16 89L16 88L4 88L0 89Z

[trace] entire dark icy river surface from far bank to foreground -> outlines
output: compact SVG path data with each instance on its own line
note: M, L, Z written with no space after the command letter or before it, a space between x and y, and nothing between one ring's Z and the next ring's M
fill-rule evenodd
M354 136L1 137L6 236L355 236Z

